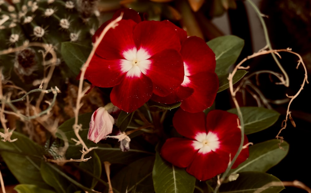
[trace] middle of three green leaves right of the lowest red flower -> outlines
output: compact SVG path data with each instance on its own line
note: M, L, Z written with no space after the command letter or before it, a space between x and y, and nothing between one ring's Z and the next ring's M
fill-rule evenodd
M266 172L278 164L288 153L289 144L281 143L280 140L272 139L249 147L249 157L236 169L231 169L230 173L245 171ZM281 149L281 148L282 149Z

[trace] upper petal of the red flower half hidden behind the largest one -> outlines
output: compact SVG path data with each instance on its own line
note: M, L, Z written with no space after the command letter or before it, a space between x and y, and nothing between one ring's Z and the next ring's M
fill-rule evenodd
M215 71L215 54L204 40L199 37L188 37L182 44L180 54L183 56L183 61L188 66L190 75L199 72Z

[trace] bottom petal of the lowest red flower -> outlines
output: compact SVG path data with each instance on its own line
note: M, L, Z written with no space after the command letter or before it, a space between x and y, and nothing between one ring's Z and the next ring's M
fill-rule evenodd
M188 166L187 172L198 180L208 180L225 172L228 167L228 160L211 151L207 154L197 153L193 162Z

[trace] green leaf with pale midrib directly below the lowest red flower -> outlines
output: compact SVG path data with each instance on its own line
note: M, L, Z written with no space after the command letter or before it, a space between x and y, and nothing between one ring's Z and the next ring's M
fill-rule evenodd
M163 160L159 152L156 153L152 178L156 193L183 193L194 191L194 176L188 174L185 169L175 167Z

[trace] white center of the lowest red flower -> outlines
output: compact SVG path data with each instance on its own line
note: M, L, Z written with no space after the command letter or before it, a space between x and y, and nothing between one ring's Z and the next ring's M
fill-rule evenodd
M220 142L217 134L213 132L197 133L196 141L193 141L192 146L198 153L206 154L211 151L216 151L220 147Z

